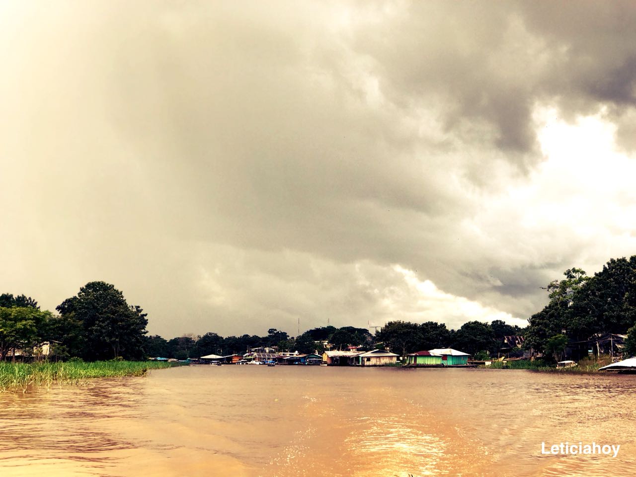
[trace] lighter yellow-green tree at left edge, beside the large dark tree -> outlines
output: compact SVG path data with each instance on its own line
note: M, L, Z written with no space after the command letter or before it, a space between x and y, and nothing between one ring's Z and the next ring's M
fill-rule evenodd
M0 307L0 361L12 351L39 345L50 316L34 307Z

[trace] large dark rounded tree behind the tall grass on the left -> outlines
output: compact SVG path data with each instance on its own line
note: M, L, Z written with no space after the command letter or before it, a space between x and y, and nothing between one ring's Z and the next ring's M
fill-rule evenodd
M128 305L123 293L106 282L89 282L76 296L58 307L62 317L73 314L81 322L86 344L85 359L142 357L147 314Z

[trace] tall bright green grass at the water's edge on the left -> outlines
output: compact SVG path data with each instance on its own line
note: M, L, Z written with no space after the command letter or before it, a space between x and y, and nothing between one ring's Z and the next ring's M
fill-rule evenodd
M27 392L38 386L79 384L93 378L141 376L151 369L170 368L165 361L68 361L67 363L0 363L0 391Z

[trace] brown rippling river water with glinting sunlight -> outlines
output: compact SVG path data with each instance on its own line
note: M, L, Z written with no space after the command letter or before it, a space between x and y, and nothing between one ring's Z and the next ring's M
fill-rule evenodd
M633 476L636 376L190 366L0 394L0 476ZM542 455L541 445L620 445Z

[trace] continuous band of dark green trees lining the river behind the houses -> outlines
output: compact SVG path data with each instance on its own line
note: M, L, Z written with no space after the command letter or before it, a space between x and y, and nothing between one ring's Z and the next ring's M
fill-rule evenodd
M593 277L580 268L570 268L563 275L565 279L553 280L545 287L548 304L529 318L526 328L495 320L468 321L459 329L448 329L444 323L396 319L375 334L354 326L321 326L295 337L277 328L268 329L264 336L224 337L213 331L169 340L147 336L146 313L137 305L128 305L121 291L105 282L89 282L81 287L78 294L56 307L57 314L39 310L30 297L3 294L0 361L14 359L18 350L20 359L37 358L46 354L41 349L46 342L47 356L52 361L71 357L85 361L116 357L183 360L209 354L244 354L256 348L300 353L381 348L405 356L450 347L484 361L504 355L531 356L553 364L564 357L579 360L590 354L602 356L605 350L598 338L607 333L626 336L618 348L612 342L610 354L636 355L636 256L611 259Z

